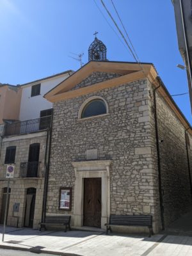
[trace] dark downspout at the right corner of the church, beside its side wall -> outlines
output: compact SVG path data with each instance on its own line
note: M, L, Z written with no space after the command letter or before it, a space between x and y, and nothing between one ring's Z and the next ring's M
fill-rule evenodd
M161 225L162 230L164 230L164 207L163 207L163 193L162 193L162 184L161 184L161 159L160 159L160 150L159 150L159 132L158 132L158 124L157 124L157 104L156 104L156 90L161 87L161 83L154 90L154 118L155 118L155 128L156 128L156 147L157 147L157 167L158 167L158 175L159 175L159 201L160 201L160 209L161 209Z

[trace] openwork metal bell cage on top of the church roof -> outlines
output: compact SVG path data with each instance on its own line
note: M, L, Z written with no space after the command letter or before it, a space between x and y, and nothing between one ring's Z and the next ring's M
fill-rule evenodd
M88 49L88 60L96 60L96 61L104 61L107 60L107 48L106 45L103 44L98 38L97 33L95 32L95 40L90 44L90 47Z

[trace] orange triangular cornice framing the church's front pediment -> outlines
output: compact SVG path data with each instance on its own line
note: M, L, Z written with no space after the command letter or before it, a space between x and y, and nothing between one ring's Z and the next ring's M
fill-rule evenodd
M142 67L142 70L141 70L141 67ZM121 84L121 80L122 80L122 83L126 83L124 81L126 78L127 78L127 83L130 83L131 81L135 81L136 75L138 76L137 79L148 77L148 79L152 79L152 80L157 76L157 72L151 63L142 63L141 65L139 65L138 63L120 63L120 62L113 62L113 61L106 61L106 62L90 61L88 64L84 65L82 68L77 70L77 72L72 74L72 76L68 77L67 79L65 79L65 81L58 84L58 86L53 88L50 92L46 93L44 95L45 99L51 102L57 102L63 99L71 99L73 97L77 97L78 95L90 93L90 90L94 91L93 86L96 91L102 90L102 88L110 87L109 81L104 81L102 83L94 84L93 86L87 86L86 88L79 88L77 90L74 90L73 92L70 92L70 90L74 86L81 83L81 81L83 81L86 77L90 76L90 74L92 74L93 72L108 72L108 73L121 74L122 76L109 80L111 81L111 87ZM84 89L83 92L81 92L82 89Z

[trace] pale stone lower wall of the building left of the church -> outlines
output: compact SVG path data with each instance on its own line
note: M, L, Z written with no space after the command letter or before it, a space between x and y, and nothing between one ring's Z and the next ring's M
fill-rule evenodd
M4 164L6 147L16 146L15 173L14 178L10 181L11 195L8 211L8 225L16 227L18 220L19 227L24 226L26 192L28 188L36 188L35 216L33 221L33 228L38 228L38 223L40 222L42 216L46 138L47 132L35 132L33 134L23 134L3 138L0 157L0 202L2 202L3 188L7 187L7 179L5 179L6 164ZM28 162L29 145L32 143L40 143L40 166L38 170L38 177L20 177L20 163ZM13 204L15 203L20 204L19 212L13 212ZM0 212L1 205L2 203L0 203Z

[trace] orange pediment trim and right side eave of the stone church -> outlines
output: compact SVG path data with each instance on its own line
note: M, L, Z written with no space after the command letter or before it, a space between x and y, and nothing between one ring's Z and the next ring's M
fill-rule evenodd
M142 67L142 69L141 69ZM116 72L121 74L120 77L103 81L100 83L92 84L76 90L71 90L76 84L81 83L86 77L90 76L92 72ZM140 79L148 79L150 83L158 89L157 91L163 96L166 103L172 108L177 115L177 118L184 125L186 129L190 129L192 134L191 125L186 117L180 111L179 107L173 100L172 96L164 86L160 77L157 74L156 68L152 63L136 63L136 62L122 62L122 61L90 61L83 67L79 68L74 74L67 77L56 87L47 92L44 97L51 102L58 102L60 100L72 99L88 93L98 92L106 88L118 86L120 84L131 83ZM161 85L159 87L159 85Z

